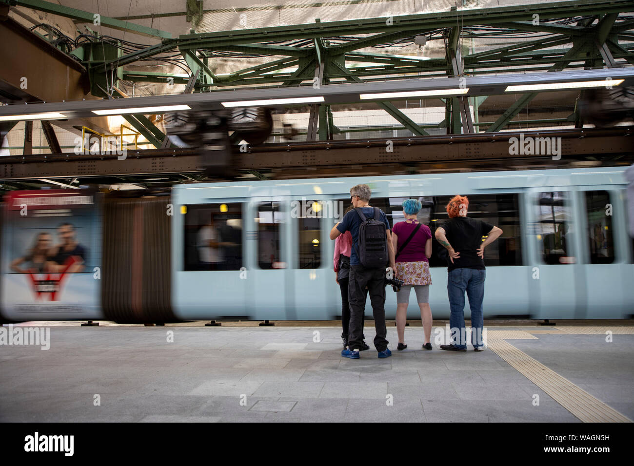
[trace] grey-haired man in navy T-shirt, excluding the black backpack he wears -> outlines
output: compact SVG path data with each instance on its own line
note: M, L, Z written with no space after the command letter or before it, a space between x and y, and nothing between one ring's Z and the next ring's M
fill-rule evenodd
M363 309L365 307L365 287L368 287L370 302L372 303L372 313L374 315L374 325L377 335L374 337L374 346L378 351L379 358L388 358L391 351L387 348L389 343L387 328L385 328L385 265L374 268L365 268L359 260L359 226L363 223L357 208L363 212L366 219L374 219L385 223L385 238L388 253L388 261L391 268L396 271L394 265L394 249L392 249L392 238L390 235L390 224L387 221L385 212L370 206L370 196L372 191L367 184L357 184L350 190L351 201L355 210L351 210L344 216L344 219L333 226L330 231L330 239L346 231L350 231L353 237L353 245L350 254L350 275L348 283L348 300L350 302L350 325L348 328L348 347L341 352L344 358L358 359L361 345L363 344ZM377 217L378 210L378 217ZM395 272L396 275L396 272Z

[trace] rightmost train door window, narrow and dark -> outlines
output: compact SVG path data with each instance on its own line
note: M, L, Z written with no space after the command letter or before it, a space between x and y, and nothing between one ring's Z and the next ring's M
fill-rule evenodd
M607 210L610 195L607 191L586 191L585 195L590 264L611 264L614 262L614 239L612 212Z

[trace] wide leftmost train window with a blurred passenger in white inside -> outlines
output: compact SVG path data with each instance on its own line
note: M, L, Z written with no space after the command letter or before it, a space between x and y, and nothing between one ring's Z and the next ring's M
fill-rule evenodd
M184 270L240 269L242 204L184 207Z

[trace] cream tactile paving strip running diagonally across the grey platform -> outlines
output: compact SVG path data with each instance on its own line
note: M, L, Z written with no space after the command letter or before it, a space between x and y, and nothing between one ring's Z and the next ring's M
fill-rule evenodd
M580 389L498 335L489 332L488 347L583 422L632 422L619 411ZM500 332L501 333L501 332ZM501 335L500 335L501 336ZM531 335L532 336L532 335Z

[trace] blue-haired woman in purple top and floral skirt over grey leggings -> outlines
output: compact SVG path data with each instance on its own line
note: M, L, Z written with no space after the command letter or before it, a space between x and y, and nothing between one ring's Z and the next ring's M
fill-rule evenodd
M394 224L392 245L396 251L396 276L403 280L401 290L396 293L396 331L399 351L405 349L405 322L410 302L411 287L416 291L420 318L425 333L424 349L432 349L432 311L429 307L429 256L432 254L432 232L429 226L419 223L418 212L422 208L417 199L403 201L405 221Z

